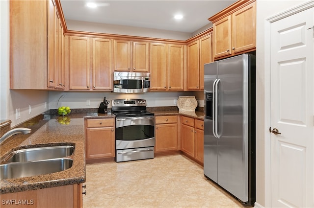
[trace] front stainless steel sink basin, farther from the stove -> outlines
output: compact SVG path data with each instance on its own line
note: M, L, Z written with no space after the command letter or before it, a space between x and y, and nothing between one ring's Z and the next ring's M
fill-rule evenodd
M3 180L55 173L72 167L72 164L73 160L69 158L1 164L0 178Z

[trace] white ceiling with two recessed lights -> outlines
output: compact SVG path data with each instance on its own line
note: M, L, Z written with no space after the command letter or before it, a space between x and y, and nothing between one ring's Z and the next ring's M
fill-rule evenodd
M126 25L193 33L208 25L209 17L236 0L60 0L65 21ZM183 19L176 20L174 15Z

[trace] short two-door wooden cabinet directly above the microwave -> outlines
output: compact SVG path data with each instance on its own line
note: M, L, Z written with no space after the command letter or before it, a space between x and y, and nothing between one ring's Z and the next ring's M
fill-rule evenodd
M114 40L114 70L149 72L149 43Z

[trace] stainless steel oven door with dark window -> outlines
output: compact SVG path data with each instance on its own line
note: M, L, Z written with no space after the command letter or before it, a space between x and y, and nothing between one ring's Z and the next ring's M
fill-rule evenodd
M154 116L116 118L116 150L154 146Z

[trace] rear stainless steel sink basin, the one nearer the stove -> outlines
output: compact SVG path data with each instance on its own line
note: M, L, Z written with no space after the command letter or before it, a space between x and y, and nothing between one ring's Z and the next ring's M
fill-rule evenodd
M4 162L30 162L55 158L64 158L73 155L74 146L52 146L21 149L10 153Z

